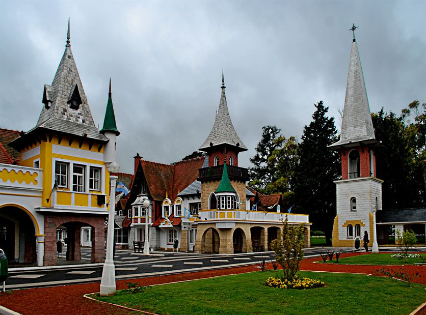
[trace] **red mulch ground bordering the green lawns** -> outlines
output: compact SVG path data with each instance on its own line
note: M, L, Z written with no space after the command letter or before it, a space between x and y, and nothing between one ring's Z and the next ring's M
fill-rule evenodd
M355 253L358 255L359 253ZM341 257L348 257L353 253L342 254ZM302 270L333 271L333 272L353 272L353 273L372 273L382 266L359 266L359 265L329 265L314 264L314 261L321 260L321 257L303 260ZM396 270L400 266L391 266ZM268 268L272 268L271 265ZM415 282L426 284L426 266L404 266L409 272L419 271L421 277L416 278ZM138 282L143 285L152 285L168 283L175 281L200 279L219 275L229 275L237 273L251 272L253 266L237 267L219 270L209 270L201 272L190 272L176 275L156 276L141 279L132 279L132 282ZM126 288L126 282L129 280L117 280L117 290ZM102 304L91 301L83 297L87 293L99 292L100 283L86 283L65 285L63 287L51 287L40 289L15 290L9 294L0 293L0 305L12 309L24 315L30 314L131 314L129 310L119 308L113 305ZM423 308L418 314L426 314Z

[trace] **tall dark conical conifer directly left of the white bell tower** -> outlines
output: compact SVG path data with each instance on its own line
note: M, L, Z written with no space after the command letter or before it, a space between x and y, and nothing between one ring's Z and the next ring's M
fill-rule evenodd
M337 141L334 118L326 117L323 101L315 104L312 122L305 126L294 174L295 212L309 214L312 228L322 230L331 244L336 216L336 185L340 177L339 155L328 148Z

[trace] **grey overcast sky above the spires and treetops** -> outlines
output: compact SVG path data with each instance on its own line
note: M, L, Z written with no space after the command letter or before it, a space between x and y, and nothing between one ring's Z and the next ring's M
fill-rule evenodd
M171 163L215 119L222 69L230 116L249 148L276 125L300 139L323 100L340 129L352 23L371 111L426 102L426 1L0 2L0 127L36 125L66 44L102 128L112 78L120 171L133 156Z

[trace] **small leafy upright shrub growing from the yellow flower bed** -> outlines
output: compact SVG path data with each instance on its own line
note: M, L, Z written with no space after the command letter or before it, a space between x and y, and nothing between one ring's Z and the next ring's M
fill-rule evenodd
M284 272L283 278L290 282L293 281L300 269L305 243L304 236L303 224L290 225L288 224L288 217L285 216L281 229L281 239L275 239L271 243L272 250L275 251L275 259Z

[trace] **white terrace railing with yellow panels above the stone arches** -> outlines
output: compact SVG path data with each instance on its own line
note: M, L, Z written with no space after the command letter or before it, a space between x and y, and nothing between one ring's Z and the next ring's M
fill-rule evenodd
M309 216L304 214L277 213L248 210L200 210L199 220L207 221L251 221L251 222L281 222L288 217L289 223L308 223Z

